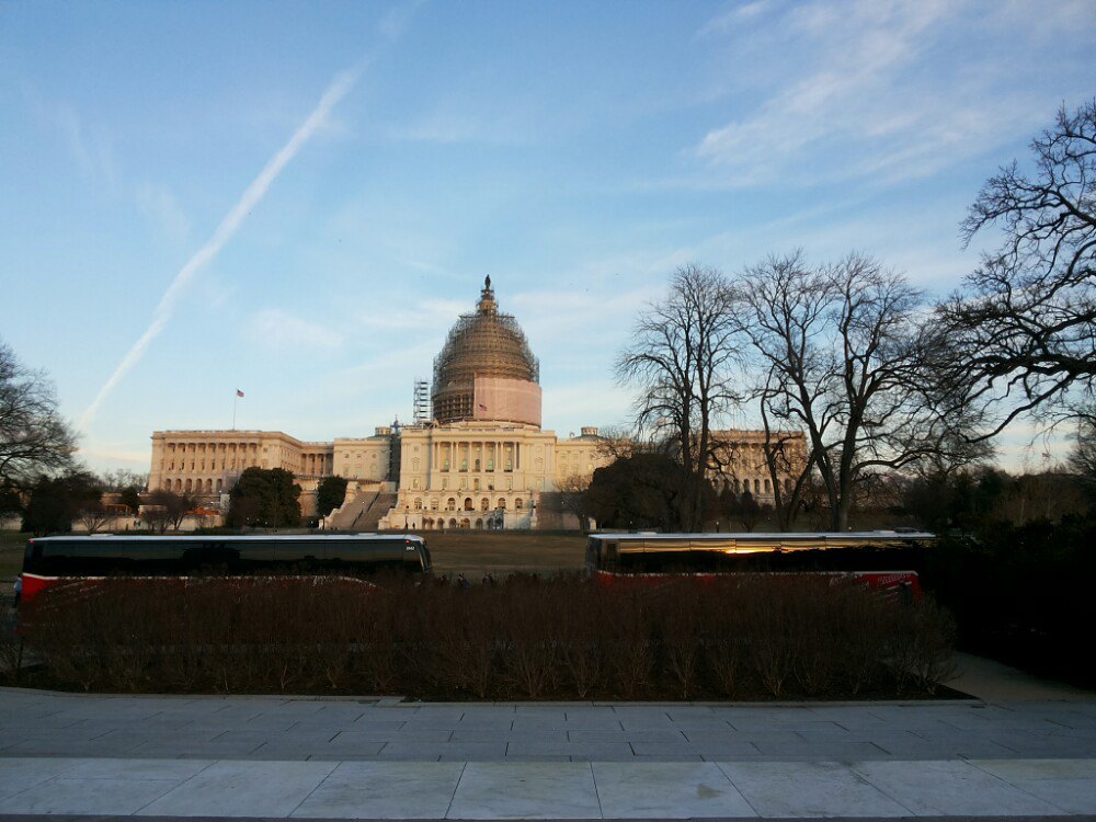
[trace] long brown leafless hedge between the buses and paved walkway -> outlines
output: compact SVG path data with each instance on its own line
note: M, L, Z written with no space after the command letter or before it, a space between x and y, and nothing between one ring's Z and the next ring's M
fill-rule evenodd
M24 653L96 692L690 699L932 694L950 617L854 584L756 578L603 590L578 578L366 587L114 580L47 592ZM3 653L0 649L0 653ZM12 653L11 647L7 650Z

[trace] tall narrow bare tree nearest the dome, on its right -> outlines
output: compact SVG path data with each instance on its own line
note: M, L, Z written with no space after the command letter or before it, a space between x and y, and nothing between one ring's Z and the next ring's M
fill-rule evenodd
M617 359L620 381L639 389L637 431L672 443L685 469L689 489L678 527L686 532L704 516L705 478L718 457L711 432L740 400L730 381L737 345L728 296L715 269L678 269L669 295L639 316L633 342Z

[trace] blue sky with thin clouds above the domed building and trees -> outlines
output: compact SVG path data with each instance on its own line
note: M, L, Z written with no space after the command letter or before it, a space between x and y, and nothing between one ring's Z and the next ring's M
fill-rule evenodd
M0 336L89 465L147 470L237 388L238 427L302 439L409 418L490 274L546 426L620 423L680 264L957 286L967 206L1093 94L1093 42L1069 0L0 0Z

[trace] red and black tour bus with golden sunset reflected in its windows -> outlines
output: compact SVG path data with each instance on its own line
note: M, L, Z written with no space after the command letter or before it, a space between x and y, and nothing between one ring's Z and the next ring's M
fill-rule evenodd
M677 576L811 573L850 578L918 596L917 573L935 535L924 532L817 534L592 534L586 571L603 585L661 584Z

